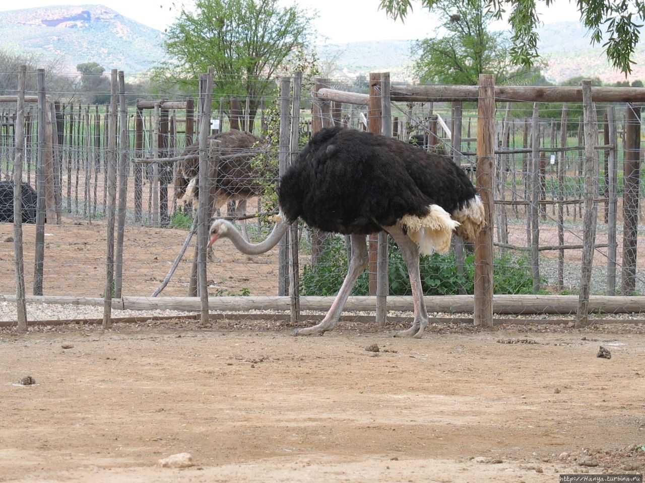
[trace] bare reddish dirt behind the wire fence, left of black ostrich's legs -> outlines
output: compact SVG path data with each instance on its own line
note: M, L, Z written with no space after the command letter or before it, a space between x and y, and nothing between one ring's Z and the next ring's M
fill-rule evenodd
M123 294L150 296L168 274L188 231L127 225L123 234ZM15 294L14 225L0 223L0 294ZM35 225L23 225L25 285L32 293ZM192 239L186 256L161 296L186 296L194 257ZM248 258L228 241L215 246L208 263L212 295L277 294L277 249ZM48 296L102 297L106 279L106 223L63 218L45 225L43 293Z

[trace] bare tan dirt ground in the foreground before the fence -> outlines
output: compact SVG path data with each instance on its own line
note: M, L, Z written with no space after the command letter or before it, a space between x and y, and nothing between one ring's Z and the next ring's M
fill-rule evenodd
M394 339L393 328L3 329L0 481L517 483L644 472L640 325L444 324L421 340ZM597 357L600 345L611 359ZM19 384L26 376L35 384ZM194 466L157 466L182 452Z

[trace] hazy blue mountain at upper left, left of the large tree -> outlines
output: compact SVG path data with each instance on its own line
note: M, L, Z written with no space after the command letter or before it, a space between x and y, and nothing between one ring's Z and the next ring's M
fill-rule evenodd
M82 62L137 73L165 57L162 32L103 5L0 12L0 38L3 49L60 62L70 73Z

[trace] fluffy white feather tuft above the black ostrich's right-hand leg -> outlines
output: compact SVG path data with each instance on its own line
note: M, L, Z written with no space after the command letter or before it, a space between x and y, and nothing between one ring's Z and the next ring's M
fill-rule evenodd
M432 252L444 253L450 248L450 238L459 222L450 218L450 214L439 205L430 205L428 214L420 218L411 214L402 216L399 224L407 231L413 242L419 245L424 255Z

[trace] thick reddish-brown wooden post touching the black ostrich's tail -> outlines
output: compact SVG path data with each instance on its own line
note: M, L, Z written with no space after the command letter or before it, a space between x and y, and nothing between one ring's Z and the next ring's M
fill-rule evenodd
M477 191L486 209L486 226L475 240L474 323L493 326L493 180L495 179L495 76L479 75Z

